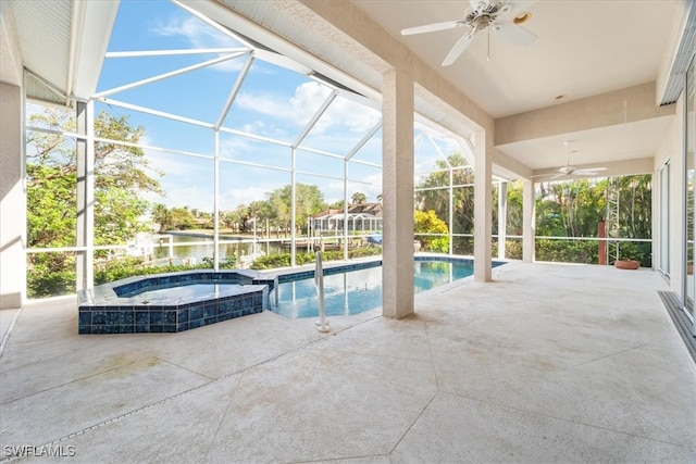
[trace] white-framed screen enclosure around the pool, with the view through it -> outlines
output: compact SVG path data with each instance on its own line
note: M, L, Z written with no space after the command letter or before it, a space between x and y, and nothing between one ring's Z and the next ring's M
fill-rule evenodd
M121 2L94 98L27 106L28 297L381 254L381 96L345 81L185 4ZM473 254L472 141L414 120L415 249ZM520 259L509 180L490 186L493 254Z

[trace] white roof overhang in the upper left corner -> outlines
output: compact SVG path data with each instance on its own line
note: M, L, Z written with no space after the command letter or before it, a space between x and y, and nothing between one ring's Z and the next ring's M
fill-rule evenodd
M0 8L0 80L23 84L28 99L47 103L91 98L119 0L9 0Z

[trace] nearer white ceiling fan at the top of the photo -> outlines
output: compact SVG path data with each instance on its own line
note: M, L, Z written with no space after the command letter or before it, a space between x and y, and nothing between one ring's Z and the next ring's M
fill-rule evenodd
M488 48L490 48L490 30L504 39L521 46L530 46L536 40L536 36L520 26L519 23L529 18L529 15L513 17L506 21L506 16L521 11L536 3L537 0L469 0L471 7L467 9L463 20L446 21L444 23L426 24L424 26L409 27L401 30L402 36L414 34L434 33L437 30L453 29L465 26L469 32L464 34L449 50L443 66L452 64L467 50L480 30L488 29Z

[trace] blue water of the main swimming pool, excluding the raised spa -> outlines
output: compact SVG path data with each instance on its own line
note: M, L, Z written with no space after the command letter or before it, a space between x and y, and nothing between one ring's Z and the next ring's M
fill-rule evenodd
M415 293L469 277L473 262L417 261L413 265ZM362 313L382 305L382 267L369 267L324 276L324 305L327 316ZM278 285L273 311L288 318L318 317L319 298L314 278Z

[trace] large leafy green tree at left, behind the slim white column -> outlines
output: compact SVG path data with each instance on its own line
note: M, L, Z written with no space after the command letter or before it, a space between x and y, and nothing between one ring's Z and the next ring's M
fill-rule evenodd
M74 133L76 123L66 110L46 109L33 114L32 126L57 127ZM145 135L127 116L99 113L95 135L109 140L95 143L95 244L125 243L147 229L138 218L149 204L142 193L162 193L148 160L137 145ZM27 134L27 239L29 247L66 247L76 242L77 153L75 145L61 134ZM40 297L70 290L74 286L71 253L32 253L29 296ZM62 276L62 277L57 277ZM70 288L65 285L72 279Z

